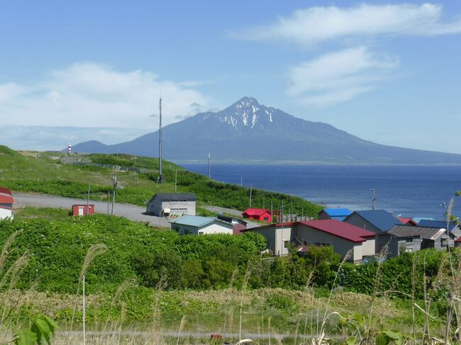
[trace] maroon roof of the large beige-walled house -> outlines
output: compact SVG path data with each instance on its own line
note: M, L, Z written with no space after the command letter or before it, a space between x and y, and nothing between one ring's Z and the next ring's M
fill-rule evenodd
M351 242L365 242L365 237L374 237L375 235L374 232L367 231L361 227L356 227L355 225L350 225L348 223L340 222L339 220L334 219L309 220L299 223L313 227L313 229L316 230L328 232L328 234L333 234Z

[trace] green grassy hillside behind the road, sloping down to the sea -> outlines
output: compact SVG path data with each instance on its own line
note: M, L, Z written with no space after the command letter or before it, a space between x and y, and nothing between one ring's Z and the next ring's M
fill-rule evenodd
M0 185L13 191L47 193L55 196L107 200L113 186L113 165L121 166L117 173L116 202L145 205L155 193L177 191L196 193L199 205L215 205L245 210L249 206L249 188L220 183L201 174L184 170L172 162L162 163L167 183L156 183L158 159L129 154L71 154L62 152L15 152L0 146ZM148 171L145 171L148 169ZM131 171L130 171L131 170ZM132 171L134 170L134 171ZM321 207L294 196L253 189L252 206L262 207L282 201L292 204L295 213L316 216Z

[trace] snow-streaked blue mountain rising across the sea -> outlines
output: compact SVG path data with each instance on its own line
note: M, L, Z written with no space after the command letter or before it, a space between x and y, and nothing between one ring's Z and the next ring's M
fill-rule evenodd
M332 125L295 118L243 97L218 112L199 113L162 131L165 159L227 162L461 164L460 154L379 145ZM158 155L158 131L130 142L82 142L75 152Z

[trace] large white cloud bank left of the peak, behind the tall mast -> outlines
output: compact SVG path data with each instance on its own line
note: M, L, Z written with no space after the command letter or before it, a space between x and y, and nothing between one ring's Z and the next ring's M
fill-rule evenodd
M193 115L191 104L209 103L199 92L149 72L82 62L35 85L0 85L0 115L3 125L156 128L149 115L158 113L160 89L165 125L177 115Z

